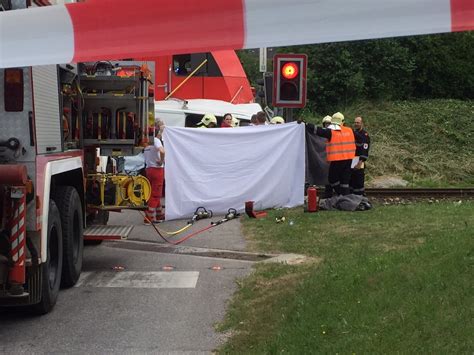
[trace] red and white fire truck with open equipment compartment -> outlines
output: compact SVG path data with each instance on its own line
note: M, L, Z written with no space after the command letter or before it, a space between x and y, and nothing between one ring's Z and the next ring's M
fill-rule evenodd
M101 169L99 152L121 157L147 144L150 67L96 62L0 69L1 306L49 312L60 286L79 279L84 240L130 231L96 224L105 224L110 210L143 208L149 183L110 164Z

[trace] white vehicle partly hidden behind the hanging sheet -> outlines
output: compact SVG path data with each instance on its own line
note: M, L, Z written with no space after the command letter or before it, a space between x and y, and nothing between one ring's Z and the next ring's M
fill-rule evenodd
M175 127L196 127L206 113L216 116L218 126L226 113L239 119L241 126L248 126L252 115L259 111L263 110L257 103L232 104L209 99L155 101L155 120L163 120L167 126Z

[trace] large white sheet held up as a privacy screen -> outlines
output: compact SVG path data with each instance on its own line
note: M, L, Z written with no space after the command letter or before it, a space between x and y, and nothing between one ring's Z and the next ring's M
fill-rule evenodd
M304 125L241 128L166 127L166 219L303 204Z

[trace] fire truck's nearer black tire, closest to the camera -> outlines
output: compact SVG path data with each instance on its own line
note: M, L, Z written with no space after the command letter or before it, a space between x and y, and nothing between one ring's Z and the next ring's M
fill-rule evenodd
M33 305L33 311L37 314L46 314L53 309L61 285L63 264L61 217L53 200L49 201L47 243L46 262L41 265L41 301Z

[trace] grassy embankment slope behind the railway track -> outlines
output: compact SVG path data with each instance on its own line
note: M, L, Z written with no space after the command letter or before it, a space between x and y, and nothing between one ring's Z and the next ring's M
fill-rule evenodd
M371 136L368 181L395 175L411 186L474 185L474 101L363 102L341 108L362 116ZM321 123L319 115L307 120Z

